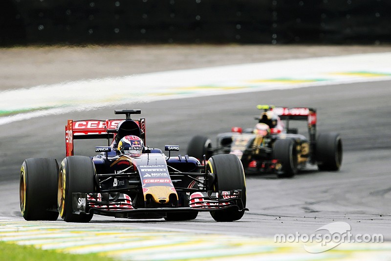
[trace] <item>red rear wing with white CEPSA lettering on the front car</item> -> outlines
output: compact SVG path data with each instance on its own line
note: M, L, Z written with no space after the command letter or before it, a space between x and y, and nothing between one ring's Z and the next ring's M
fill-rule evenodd
M141 139L145 142L145 119L127 119L134 121L140 128ZM125 119L68 119L65 125L65 154L74 155L74 140L82 139L112 139L117 135L118 124ZM134 124L134 123L133 123Z

